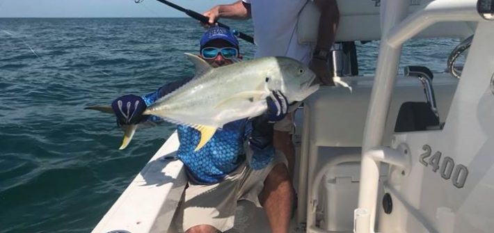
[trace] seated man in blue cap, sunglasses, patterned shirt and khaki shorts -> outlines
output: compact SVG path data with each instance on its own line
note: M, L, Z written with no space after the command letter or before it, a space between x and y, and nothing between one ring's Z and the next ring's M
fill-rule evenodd
M200 38L200 57L213 67L241 58L239 43L227 29L214 26ZM156 92L124 95L112 108L120 125L157 120L143 115L146 106L190 81L168 83ZM285 156L273 147L273 122L287 114L287 99L279 91L268 97L268 111L252 120L225 124L197 152L200 132L179 125L177 157L184 163L189 185L180 205L185 232L224 232L233 227L237 201L262 204L272 232L288 232L292 214L292 184Z

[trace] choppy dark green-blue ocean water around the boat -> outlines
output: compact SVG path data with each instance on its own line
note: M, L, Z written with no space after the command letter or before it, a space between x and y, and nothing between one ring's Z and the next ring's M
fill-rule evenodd
M224 22L253 35L250 22ZM186 18L0 18L0 232L90 232L174 126L120 151L115 118L83 108L192 75L183 53L203 31ZM458 42L409 42L400 66L442 72ZM379 42L357 46L372 74ZM254 49L241 41L245 58Z

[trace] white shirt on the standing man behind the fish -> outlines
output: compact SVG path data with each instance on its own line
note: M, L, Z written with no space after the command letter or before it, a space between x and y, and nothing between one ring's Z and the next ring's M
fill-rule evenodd
M297 41L298 13L307 0L242 0L250 4L254 24L255 57L287 56L308 65L309 44Z

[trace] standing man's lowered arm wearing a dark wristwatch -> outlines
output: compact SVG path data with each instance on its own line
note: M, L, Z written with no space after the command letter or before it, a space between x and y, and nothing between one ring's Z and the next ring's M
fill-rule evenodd
M333 42L335 42L336 30L338 23L340 22L340 11L336 0L314 0L316 6L321 10L321 17L319 18L319 31L317 36L317 45L315 51L331 49ZM328 63L324 58L314 56L310 64L310 68L317 74L319 81L328 86L334 86L333 74L329 73Z

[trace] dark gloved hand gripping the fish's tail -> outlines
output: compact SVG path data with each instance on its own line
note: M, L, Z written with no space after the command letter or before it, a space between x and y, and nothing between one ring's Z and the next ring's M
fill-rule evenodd
M137 95L124 95L111 103L118 125L137 124L143 120L146 110L144 99Z

